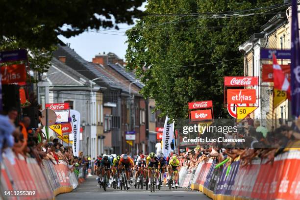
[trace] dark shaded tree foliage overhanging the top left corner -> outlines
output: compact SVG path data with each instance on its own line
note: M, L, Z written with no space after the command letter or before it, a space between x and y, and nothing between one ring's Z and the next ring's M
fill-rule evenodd
M1 0L0 35L24 41L28 48L49 48L57 44L57 35L69 38L87 28L133 24L144 1Z

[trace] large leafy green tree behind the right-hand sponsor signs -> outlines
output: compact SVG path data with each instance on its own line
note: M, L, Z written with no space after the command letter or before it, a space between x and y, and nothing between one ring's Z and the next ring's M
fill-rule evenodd
M145 84L141 93L155 100L162 115L186 118L189 101L213 100L214 117L226 117L223 77L243 75L238 46L286 9L282 3L150 0L147 16L126 32L127 69L135 70Z

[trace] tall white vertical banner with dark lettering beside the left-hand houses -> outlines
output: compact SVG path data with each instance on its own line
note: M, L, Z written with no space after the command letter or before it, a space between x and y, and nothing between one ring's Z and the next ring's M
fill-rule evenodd
M80 113L77 110L70 110L73 125L73 154L78 156L79 153L79 137L80 137Z

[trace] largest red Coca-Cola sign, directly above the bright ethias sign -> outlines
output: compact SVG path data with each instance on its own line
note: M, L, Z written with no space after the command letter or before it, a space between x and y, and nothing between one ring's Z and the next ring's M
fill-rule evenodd
M255 86L258 85L257 76L225 76L225 86Z

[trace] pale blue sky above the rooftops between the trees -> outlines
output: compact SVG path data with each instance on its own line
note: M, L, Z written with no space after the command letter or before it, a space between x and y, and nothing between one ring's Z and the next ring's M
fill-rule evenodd
M147 3L144 2L143 5L138 9L145 11L146 4ZM63 36L58 36L58 38L64 43L70 43L70 48L74 49L87 61L92 61L92 58L95 57L96 54L102 54L103 52L113 52L125 60L127 49L127 44L125 44L125 41L127 40L125 31L134 25L118 24L118 26L120 28L119 30L103 30L103 28L101 28L100 31L87 31L71 38L66 38Z

